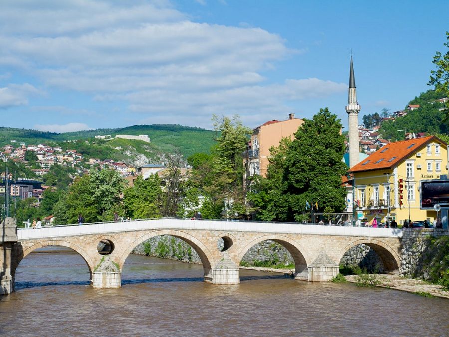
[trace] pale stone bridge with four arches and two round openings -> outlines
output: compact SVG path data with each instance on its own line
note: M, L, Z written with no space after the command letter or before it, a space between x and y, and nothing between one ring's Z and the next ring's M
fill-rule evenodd
M290 252L295 278L299 280L329 281L338 274L338 263L345 252L359 244L372 247L385 270L395 271L399 267L402 230L171 218L19 229L18 241L10 247L12 288L20 261L34 250L50 245L78 252L89 267L93 287L119 288L121 271L131 251L159 235L172 235L192 246L200 256L206 282L238 284L243 255L265 240L273 240ZM221 249L220 239L224 242ZM105 251L99 252L99 243Z

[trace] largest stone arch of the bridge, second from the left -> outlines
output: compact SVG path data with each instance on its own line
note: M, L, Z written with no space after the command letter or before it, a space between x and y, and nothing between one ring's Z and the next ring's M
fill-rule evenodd
M187 242L195 250L195 252L197 252L198 256L200 257L201 263L203 264L205 277L206 276L211 277L212 266L215 266L215 260L209 249L194 236L178 230L154 230L134 240L131 244L129 244L128 247L124 249L121 257L119 258L118 264L120 266L120 270L123 270L123 265L125 264L127 257L129 256L129 254L131 254L134 248L136 248L139 244L141 244L145 240L160 235L171 235Z

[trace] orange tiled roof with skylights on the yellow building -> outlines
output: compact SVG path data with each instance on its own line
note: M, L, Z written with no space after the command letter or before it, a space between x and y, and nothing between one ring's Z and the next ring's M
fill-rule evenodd
M360 172L394 167L434 139L447 145L444 141L435 136L390 143L371 154L368 159L362 160L360 163L353 166L350 171Z

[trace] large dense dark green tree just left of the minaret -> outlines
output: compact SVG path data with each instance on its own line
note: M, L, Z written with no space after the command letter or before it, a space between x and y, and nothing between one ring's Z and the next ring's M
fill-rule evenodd
M327 212L344 209L346 191L341 177L346 173L342 160L345 145L340 130L340 120L325 108L312 120L304 119L295 133L283 174L294 219L306 211L306 202L318 203L318 208Z

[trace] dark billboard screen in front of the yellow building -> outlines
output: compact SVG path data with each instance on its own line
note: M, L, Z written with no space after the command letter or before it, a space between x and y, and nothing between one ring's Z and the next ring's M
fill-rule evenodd
M421 180L421 209L449 207L449 180Z

